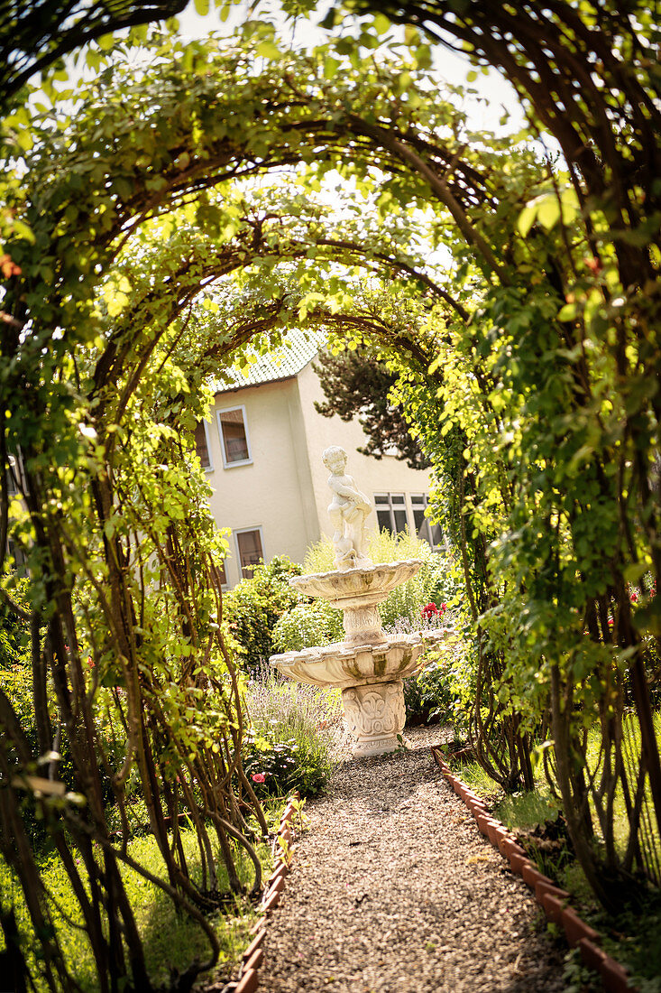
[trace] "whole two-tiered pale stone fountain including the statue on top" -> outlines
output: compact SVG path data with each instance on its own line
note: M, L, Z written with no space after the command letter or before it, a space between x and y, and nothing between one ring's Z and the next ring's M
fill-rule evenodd
M346 453L333 446L323 456L331 471L329 506L334 529L332 572L296 576L302 594L328 601L343 612L344 639L324 647L272 655L284 675L313 686L339 687L346 730L356 757L381 755L404 744L406 717L402 680L420 664L426 647L445 639L449 629L386 635L378 604L416 574L422 562L409 559L374 565L365 553L365 518L371 503L345 475Z

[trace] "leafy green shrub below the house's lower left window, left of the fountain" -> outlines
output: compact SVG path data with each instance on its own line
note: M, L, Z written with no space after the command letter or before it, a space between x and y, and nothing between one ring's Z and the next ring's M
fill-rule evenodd
M223 620L230 643L248 671L256 670L273 654L273 629L298 599L288 580L302 571L286 556L277 555L268 564L260 563L251 579L242 579L225 594Z

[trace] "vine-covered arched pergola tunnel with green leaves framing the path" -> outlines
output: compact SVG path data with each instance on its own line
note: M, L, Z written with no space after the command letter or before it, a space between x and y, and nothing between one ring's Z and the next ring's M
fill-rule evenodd
M312 54L279 47L268 24L222 45L155 35L142 41L138 73L129 41L68 117L54 122L15 95L4 119L14 172L0 458L6 470L21 457L23 507L10 515L3 472L0 553L11 533L33 592L18 603L9 579L2 596L31 627L38 741L0 690L10 784L0 845L54 988L76 987L26 795L71 881L102 990L120 980L151 988L122 864L208 937L207 961L173 980L177 989L218 953L206 914L225 897L219 862L240 890L245 853L248 888L261 885L255 842L267 825L241 768L224 549L192 434L218 364L248 345L267 349L293 324L376 341L401 373L463 564L480 762L506 789L531 787L533 741L548 737L544 761L599 899L608 906L623 883L633 887L634 870L660 881L647 831L661 822L650 690L661 630L652 28L642 6L603 2L581 16L565 2L377 6L372 18L369 4L355 5L358 41L331 34ZM365 57L388 30L384 13L420 31L407 35L404 61ZM503 70L530 135L550 133L562 159L468 134L438 89L433 43ZM331 170L355 183L355 212L315 202ZM446 273L429 262L430 245L452 256ZM101 706L125 729L112 754ZM65 797L27 779L60 780L63 739L76 787ZM135 771L164 880L128 851ZM121 838L108 827L110 800ZM178 841L183 806L201 882Z

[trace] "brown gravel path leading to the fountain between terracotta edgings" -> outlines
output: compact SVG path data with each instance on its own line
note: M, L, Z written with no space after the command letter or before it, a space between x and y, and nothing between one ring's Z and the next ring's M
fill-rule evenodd
M309 801L267 924L264 993L562 990L563 952L527 886L478 833L429 747L345 761Z

